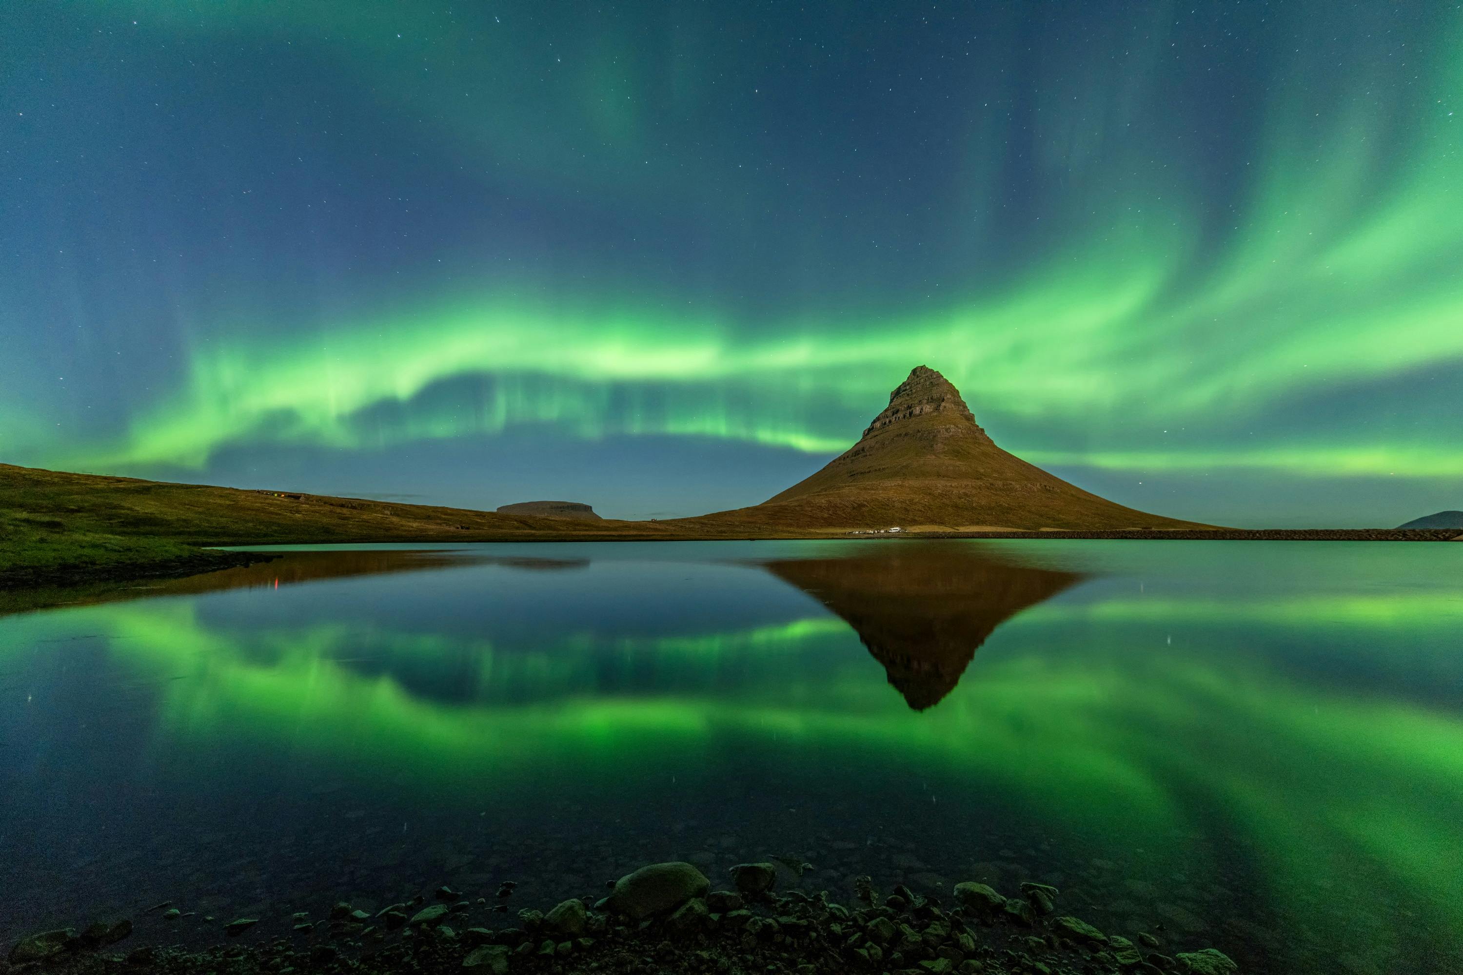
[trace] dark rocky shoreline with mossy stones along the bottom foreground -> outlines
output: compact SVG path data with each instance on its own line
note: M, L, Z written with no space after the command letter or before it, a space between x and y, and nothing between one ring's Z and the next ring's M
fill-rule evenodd
M99 921L20 938L0 975L142 974L296 975L1233 975L1211 947L1166 944L1150 931L1103 933L1064 915L1056 887L1021 883L1004 896L958 883L947 898L903 884L879 892L868 877L854 903L828 892L778 890L802 864L748 862L724 890L692 864L651 864L607 884L604 896L571 898L549 911L511 911L515 884L484 896L451 887L373 912L347 902L325 917L198 918L159 903L146 918ZM180 922L218 925L224 943L167 944ZM146 934L135 934L136 928ZM173 938L176 940L176 938ZM126 944L140 941L140 944ZM120 950L127 947L130 950Z

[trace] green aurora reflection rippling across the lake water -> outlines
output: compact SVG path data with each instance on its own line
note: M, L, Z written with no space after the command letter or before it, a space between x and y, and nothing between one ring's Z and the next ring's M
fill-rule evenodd
M104 634L124 678L161 681L154 747L309 756L341 775L395 776L435 804L470 805L487 788L530 805L578 797L606 816L633 810L639 784L657 775L714 778L729 746L824 800L809 769L835 763L878 791L898 767L949 795L996 797L1039 835L1065 836L1071 857L1141 848L1166 864L1159 877L1189 879L1245 861L1254 886L1226 909L1301 955L1321 950L1312 962L1425 968L1429 952L1463 937L1451 896L1463 871L1463 665L1444 652L1463 601L1437 582L1457 555L1372 547L1359 563L1355 548L1078 551L1074 569L1106 561L1116 574L1004 624L961 684L917 715L815 604L745 629L645 634L623 617L576 615L560 573L519 572L540 588L527 599L515 591L524 615L565 601L552 639L496 640L512 629L499 615L471 633L433 630L424 615L394 626L392 614L335 611L325 586L344 593L369 580L316 583L313 618L298 623L310 586L281 591L296 602L284 611L257 592L231 607L138 601L0 627L7 645L42 652L57 645L40 640ZM1195 551L1213 564L1185 572ZM1067 560L1052 542L1023 554ZM1359 574L1365 564L1374 572ZM451 572L487 573L486 591L514 570ZM635 563L609 572L628 586L636 577ZM780 585L751 567L717 573ZM16 661L25 674L42 669L34 650L13 649L7 669ZM544 778L546 765L557 775ZM1431 943L1388 933L1399 911L1416 911Z

